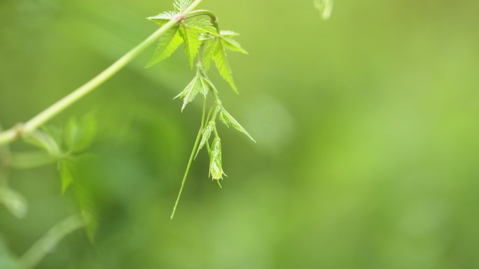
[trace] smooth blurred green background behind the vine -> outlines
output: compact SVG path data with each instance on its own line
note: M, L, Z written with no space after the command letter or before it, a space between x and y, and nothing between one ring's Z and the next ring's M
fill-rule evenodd
M29 119L157 27L171 1L0 0L0 122ZM200 120L172 98L183 53L151 51L53 124L96 110L82 180L99 216L37 268L479 268L479 1L204 0L249 56L230 53L225 107L258 144L221 128L223 189L193 165ZM13 150L29 147L22 143ZM55 166L13 170L25 219L0 208L14 256L77 212ZM4 251L1 250L0 252Z

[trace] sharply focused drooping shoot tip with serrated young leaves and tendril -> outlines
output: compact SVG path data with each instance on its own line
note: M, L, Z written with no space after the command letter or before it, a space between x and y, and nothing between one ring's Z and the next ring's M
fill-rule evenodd
M211 92L211 95L214 97L214 104L209 110L207 117L204 115L206 106L206 103L204 102L202 126L200 127L200 131L197 135L197 140L195 142L195 146L193 147L190 161L188 162L186 173L183 177L183 182L181 182L181 189L179 191L178 198L176 199L172 217L174 216L176 205L178 204L179 198L181 196L181 191L183 190L183 184L188 175L190 164L205 145L207 146L210 158L209 174L214 180L217 181L223 178L224 173L221 165L221 139L219 138L218 131L216 130L216 119L218 115L220 116L221 121L226 124L226 126L233 126L233 128L244 133L248 136L248 138L254 141L244 127L223 108L221 100L218 96L219 92L214 86L213 82L209 80L207 75L211 67L211 63L214 62L218 73L237 93L237 86L232 76L232 70L228 62L228 55L226 54L226 51L230 50L243 54L248 54L248 52L242 48L240 43L235 41L234 37L238 36L239 34L235 33L234 31L221 31L219 29L216 16L214 16L211 12L199 10L191 17L182 14L189 4L190 1L176 0L174 2L174 11L148 17L148 20L151 20L162 26L170 20L176 20L179 15L182 16L180 17L181 21L178 22L176 27L160 36L155 53L153 54L153 58L147 65L152 66L153 64L167 59L167 57L169 57L178 48L180 43L183 43L186 57L188 57L188 63L190 64L191 68L193 68L195 59L197 59L197 71L195 77L186 86L186 88L175 97L175 99L183 99L181 111L186 108L188 103L193 102L198 94L202 94L205 100L207 99L208 92ZM210 17L211 21L198 18L199 15L207 15ZM204 126L205 122L206 126ZM211 138L212 134L214 134L214 140L210 150L209 139Z

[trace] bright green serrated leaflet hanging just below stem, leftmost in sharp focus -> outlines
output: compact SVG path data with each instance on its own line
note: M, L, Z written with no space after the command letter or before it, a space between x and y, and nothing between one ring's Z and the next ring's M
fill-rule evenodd
M146 64L146 67L151 67L170 57L181 43L183 43L183 39L179 35L179 27L173 27L166 31L158 38L158 45L156 45L153 57Z

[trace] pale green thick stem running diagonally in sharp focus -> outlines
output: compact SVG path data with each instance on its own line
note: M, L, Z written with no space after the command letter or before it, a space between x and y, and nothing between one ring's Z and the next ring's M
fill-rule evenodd
M102 85L106 80L109 80L111 77L113 77L113 75L118 73L118 71L132 61L132 59L137 57L141 52L152 45L162 34L174 27L175 24L181 22L181 20L190 14L200 4L201 1L202 0L195 0L190 6L188 6L188 8L186 8L183 14L167 22L160 29L151 34L151 36L148 36L148 38L146 38L143 42L139 43L139 45L134 47L132 50L123 55L123 57L102 71L102 73L99 73L97 76L95 76L95 78L92 78L92 80L85 83L85 85L79 87L74 92L71 92L71 94L65 96L60 101L57 101L57 103L54 103L46 110L43 110L43 112L40 112L39 115L36 115L25 124L18 124L16 127L0 133L0 145L12 143L14 140L20 138L20 136L35 131L39 128L39 126L45 124L53 117L60 114L60 112L69 108L69 106L82 99L83 96L92 92L94 89L99 87L99 85Z

